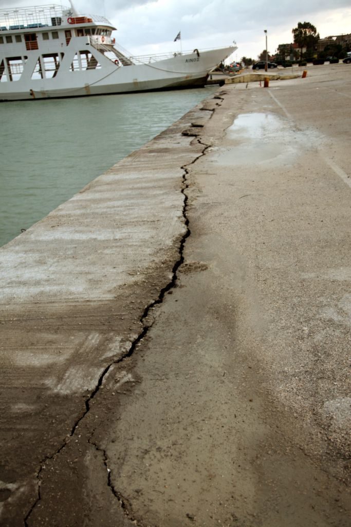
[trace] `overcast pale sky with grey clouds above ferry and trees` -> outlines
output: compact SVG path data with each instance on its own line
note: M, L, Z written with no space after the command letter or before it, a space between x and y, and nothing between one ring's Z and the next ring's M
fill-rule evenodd
M61 0L53 0L60 4ZM116 43L134 55L205 49L236 42L232 59L257 59L265 47L293 41L298 22L316 26L321 38L351 33L350 0L73 0L82 14L103 15L117 27ZM49 4L0 0L0 8ZM68 0L62 0L69 6ZM181 42L174 42L178 32ZM118 47L118 46L117 46Z

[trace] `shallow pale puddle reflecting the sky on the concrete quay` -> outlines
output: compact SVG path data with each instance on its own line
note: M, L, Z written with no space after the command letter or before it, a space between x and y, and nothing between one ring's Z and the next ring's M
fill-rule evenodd
M244 113L227 129L227 139L233 145L215 152L216 163L277 166L292 164L304 150L307 137L273 113Z

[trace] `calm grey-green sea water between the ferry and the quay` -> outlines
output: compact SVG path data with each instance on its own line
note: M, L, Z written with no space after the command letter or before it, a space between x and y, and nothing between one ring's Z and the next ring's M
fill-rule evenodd
M0 104L0 246L216 87Z

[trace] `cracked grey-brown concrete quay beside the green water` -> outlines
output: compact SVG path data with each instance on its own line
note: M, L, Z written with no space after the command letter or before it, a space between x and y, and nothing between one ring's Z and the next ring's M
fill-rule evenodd
M0 249L1 525L349 525L350 82L226 85Z

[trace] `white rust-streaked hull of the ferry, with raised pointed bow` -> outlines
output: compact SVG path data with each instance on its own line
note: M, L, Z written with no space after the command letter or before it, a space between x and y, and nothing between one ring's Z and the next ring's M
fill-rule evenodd
M190 54L177 54L165 60L116 65L106 61L93 71L72 72L65 64L52 79L26 79L0 83L0 100L38 100L89 95L175 90L204 86L210 71L234 51L234 47ZM68 65L67 58L67 65ZM32 70L33 71L33 70ZM17 90L13 90L14 88Z

